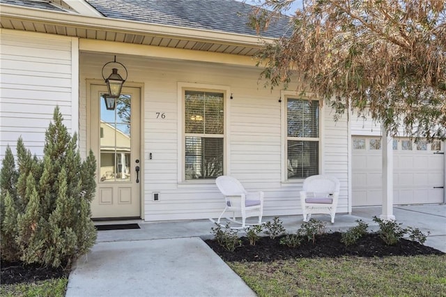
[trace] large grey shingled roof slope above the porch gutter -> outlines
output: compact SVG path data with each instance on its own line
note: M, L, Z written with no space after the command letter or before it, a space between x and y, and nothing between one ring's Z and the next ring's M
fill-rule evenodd
M252 9L235 0L86 0L105 17L256 35L247 26ZM262 36L283 36L288 19L273 23Z

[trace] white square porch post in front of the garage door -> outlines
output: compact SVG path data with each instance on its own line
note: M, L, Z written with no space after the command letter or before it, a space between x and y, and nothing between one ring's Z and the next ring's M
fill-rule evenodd
M393 215L393 137L382 128L383 151L383 213L381 220L395 220Z

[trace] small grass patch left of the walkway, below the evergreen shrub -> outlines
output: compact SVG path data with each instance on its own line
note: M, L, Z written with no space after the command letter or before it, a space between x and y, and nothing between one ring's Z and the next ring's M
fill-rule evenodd
M62 297L65 296L68 278L42 280L33 283L2 284L0 296L24 296L24 297Z

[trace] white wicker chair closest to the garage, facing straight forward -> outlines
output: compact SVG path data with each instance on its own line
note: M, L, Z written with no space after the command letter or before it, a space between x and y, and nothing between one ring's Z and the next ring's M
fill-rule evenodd
M305 178L303 189L300 191L304 222L308 222L313 213L325 213L331 215L334 223L339 188L339 180L334 176L314 175Z

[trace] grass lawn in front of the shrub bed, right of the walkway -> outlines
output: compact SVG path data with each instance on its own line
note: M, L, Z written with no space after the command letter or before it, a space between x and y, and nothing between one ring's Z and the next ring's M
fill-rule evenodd
M259 296L446 296L446 256L227 264Z

